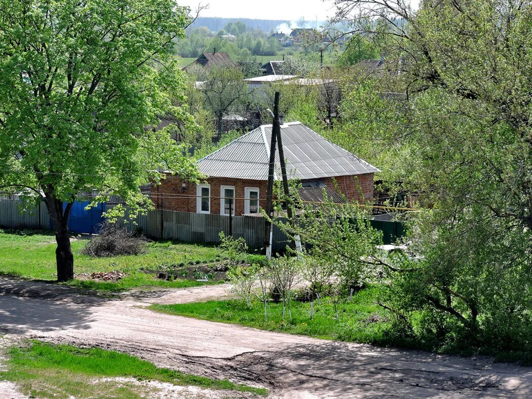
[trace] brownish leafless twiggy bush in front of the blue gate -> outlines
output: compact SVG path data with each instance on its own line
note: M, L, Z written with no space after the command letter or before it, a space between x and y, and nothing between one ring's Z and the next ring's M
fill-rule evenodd
M113 223L104 225L99 235L90 239L81 253L95 257L138 255L145 252L145 244L144 236Z

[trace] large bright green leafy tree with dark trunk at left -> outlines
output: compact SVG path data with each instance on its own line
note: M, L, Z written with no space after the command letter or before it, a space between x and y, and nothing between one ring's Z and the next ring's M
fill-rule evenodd
M182 77L172 40L187 9L170 0L0 1L0 186L44 201L57 242L57 279L73 278L68 220L84 190L149 206L139 185L158 169L195 174L157 115ZM118 211L118 210L117 210Z

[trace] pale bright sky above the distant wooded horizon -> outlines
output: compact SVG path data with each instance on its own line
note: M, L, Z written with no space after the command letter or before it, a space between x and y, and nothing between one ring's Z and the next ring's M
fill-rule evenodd
M219 16L222 18L253 18L273 20L307 21L316 19L323 21L334 15L332 0L201 0L203 5L209 4L200 16ZM189 6L196 10L200 0L178 0L179 5Z

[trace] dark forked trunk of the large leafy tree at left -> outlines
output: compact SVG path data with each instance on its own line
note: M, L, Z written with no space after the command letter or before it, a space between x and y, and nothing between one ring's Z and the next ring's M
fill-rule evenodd
M70 246L68 234L68 219L73 202L66 204L53 196L46 196L46 207L55 231L55 261L57 266L57 281L68 281L74 278L74 255Z

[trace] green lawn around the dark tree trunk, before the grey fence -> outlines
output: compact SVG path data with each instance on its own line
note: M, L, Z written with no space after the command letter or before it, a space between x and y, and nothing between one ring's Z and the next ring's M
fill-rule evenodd
M119 270L128 273L119 282L74 280L70 285L119 292L138 286L190 287L202 284L194 280L165 281L140 269L155 270L162 264L212 262L220 257L214 246L156 241L147 244L141 255L89 257L79 252L86 240L72 242L74 272L92 273ZM55 237L51 232L0 230L0 273L29 279L55 280Z

